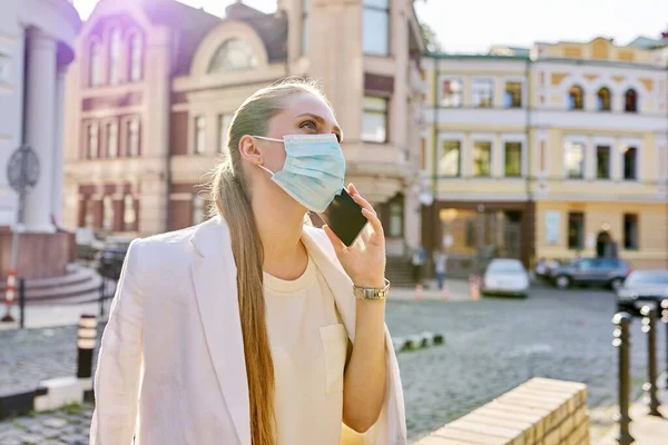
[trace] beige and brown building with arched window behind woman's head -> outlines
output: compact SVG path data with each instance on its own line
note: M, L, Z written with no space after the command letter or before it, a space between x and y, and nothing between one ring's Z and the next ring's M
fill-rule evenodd
M174 0L101 0L68 77L68 227L139 235L204 218L197 196L230 113L288 76L322 80L348 178L381 210L391 255L420 237L424 47L412 0L242 2L220 19Z

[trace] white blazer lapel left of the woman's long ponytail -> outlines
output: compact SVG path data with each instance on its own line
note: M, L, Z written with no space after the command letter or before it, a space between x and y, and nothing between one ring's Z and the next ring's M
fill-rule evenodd
M248 380L229 230L219 217L212 218L190 243L199 254L191 266L193 284L218 385L239 444L250 445Z

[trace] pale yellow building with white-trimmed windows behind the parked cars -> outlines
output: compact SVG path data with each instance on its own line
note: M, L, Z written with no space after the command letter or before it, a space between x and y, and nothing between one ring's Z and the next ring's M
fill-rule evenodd
M428 247L465 263L596 255L668 264L668 40L434 55L422 175ZM462 266L465 268L465 265Z

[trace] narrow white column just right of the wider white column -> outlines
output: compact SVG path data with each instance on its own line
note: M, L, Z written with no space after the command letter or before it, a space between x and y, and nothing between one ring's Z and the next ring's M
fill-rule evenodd
M66 68L60 67L56 75L56 107L53 108L53 168L51 179L51 214L62 226L62 162L65 130L65 78Z

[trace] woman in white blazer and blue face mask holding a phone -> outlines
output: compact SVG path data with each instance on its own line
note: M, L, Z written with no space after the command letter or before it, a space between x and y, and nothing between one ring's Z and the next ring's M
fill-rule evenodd
M370 221L356 245L304 224L343 188L341 139L304 81L239 107L210 184L217 215L128 250L91 444L327 445L342 429L405 444L381 222L351 185Z

